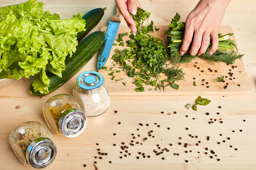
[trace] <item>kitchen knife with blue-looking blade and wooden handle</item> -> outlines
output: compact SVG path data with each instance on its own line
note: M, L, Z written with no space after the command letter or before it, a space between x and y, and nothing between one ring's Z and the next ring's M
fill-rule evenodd
M114 15L109 21L107 33L105 35L105 40L100 47L100 53L97 63L98 70L100 70L108 60L108 56L115 41L116 33L119 28L121 20L122 15L118 11L118 8L116 8L116 15Z

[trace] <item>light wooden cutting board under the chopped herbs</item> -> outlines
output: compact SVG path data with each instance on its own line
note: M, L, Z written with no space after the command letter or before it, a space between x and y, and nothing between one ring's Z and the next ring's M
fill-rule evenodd
M156 26L157 28L160 28L158 32L152 33L155 37L160 38L163 40L163 43L166 44L166 37L167 35L164 34L165 31L168 29L168 26ZM106 31L107 26L101 27L100 31ZM116 34L116 39L119 38L119 33L127 33L130 32L128 27L119 27L118 32ZM218 33L226 34L226 33L233 33L233 30L230 26L220 26L220 29ZM129 33L130 35L130 33ZM112 62L114 60L111 59L111 57L114 55L114 49L125 49L126 42L129 40L129 35L123 37L124 41L124 47L119 46L120 42L117 42L116 39L114 43L117 44L117 46L113 46L110 52L110 55L108 57L107 63L104 65L110 69L111 67L114 67ZM230 39L235 41L235 36L231 36ZM238 47L237 47L238 48ZM239 52L239 50L238 50ZM197 63L196 63L197 62ZM196 65L196 67L194 67ZM232 69L232 66L237 66L236 68ZM176 84L180 85L179 90L173 89L171 86L165 87L163 90L156 90L155 87L151 85L145 85L143 84L143 87L145 87L145 92L136 92L137 86L133 84L133 82L136 80L135 78L129 78L124 71L121 69L118 69L119 65L116 65L112 70L121 70L120 73L114 73L115 79L111 80L113 76L109 76L108 74L112 71L106 71L106 70L99 70L99 72L103 75L105 79L105 85L108 88L108 92L110 95L226 95L226 94L248 94L251 92L251 84L249 82L248 75L246 73L246 70L244 68L244 63L242 59L237 59L236 62L233 65L227 65L226 63L215 63L215 65L212 65L208 63L206 60L203 60L199 57L197 57L195 60L193 60L190 63L184 63L181 65L185 75L185 81L181 80L180 82L175 82ZM200 67L200 69L197 69L197 67ZM208 68L211 68L213 71L210 72ZM231 69L231 71L229 71ZM204 70L204 72L201 72ZM217 70L217 72L215 72ZM240 71L240 72L239 72ZM229 77L228 72L233 73L233 77ZM222 76L228 76L228 78L224 78L225 82L216 82L216 79L218 77ZM116 79L122 79L121 81L115 81ZM196 78L196 79L193 79ZM229 78L232 78L230 80ZM235 78L235 79L234 79ZM164 76L161 76L160 79L164 79ZM204 85L202 85L202 79L205 79ZM193 85L193 82L196 82L196 86ZM126 85L123 85L123 82L126 82ZM208 82L208 84L206 84ZM224 89L224 86L228 83L227 89ZM237 86L240 84L240 87ZM166 83L167 85L167 83ZM207 88L209 86L209 88ZM153 89L153 90L148 90Z

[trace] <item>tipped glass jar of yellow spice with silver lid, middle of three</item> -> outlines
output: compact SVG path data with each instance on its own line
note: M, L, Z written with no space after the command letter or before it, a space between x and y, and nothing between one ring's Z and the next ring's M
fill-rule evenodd
M55 135L77 137L87 123L76 99L68 94L57 94L46 101L43 107L44 119Z

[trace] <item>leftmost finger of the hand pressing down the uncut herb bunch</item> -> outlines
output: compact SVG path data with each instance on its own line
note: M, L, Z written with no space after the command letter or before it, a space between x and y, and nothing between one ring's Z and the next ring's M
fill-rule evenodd
M182 45L180 47L180 55L183 55L188 51L188 47L189 47L189 45L192 41L192 38L193 38L193 33L194 33L194 27L193 26L188 26L187 22L186 22L183 42L182 42Z

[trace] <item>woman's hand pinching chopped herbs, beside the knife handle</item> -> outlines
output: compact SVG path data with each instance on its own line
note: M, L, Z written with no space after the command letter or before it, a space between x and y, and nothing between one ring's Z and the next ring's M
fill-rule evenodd
M125 22L127 23L128 27L131 29L133 35L137 32L136 23L132 19L129 12L133 15L137 13L137 6L142 8L140 3L137 0L115 0L116 6L119 12L123 15ZM128 9L128 11L127 11Z

